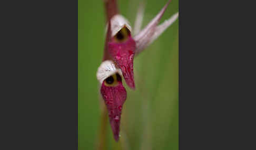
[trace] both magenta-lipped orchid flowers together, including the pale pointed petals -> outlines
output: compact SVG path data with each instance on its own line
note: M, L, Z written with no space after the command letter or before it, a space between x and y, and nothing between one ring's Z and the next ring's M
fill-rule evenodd
M97 79L101 83L101 94L109 112L110 124L116 141L119 140L121 113L126 100L122 76L126 84L131 89L135 89L134 56L149 46L178 18L179 13L176 13L157 26L170 2L171 0L142 30L140 27L144 7L140 7L135 20L135 36L132 36L132 28L128 20L120 14L113 15L107 23L105 51L109 56L103 59L105 61L98 68Z

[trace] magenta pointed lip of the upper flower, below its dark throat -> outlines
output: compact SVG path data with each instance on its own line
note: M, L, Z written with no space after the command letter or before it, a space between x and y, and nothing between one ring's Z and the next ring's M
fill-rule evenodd
M131 36L125 42L109 42L108 50L116 65L122 69L126 84L135 89L133 74L133 58L136 44Z

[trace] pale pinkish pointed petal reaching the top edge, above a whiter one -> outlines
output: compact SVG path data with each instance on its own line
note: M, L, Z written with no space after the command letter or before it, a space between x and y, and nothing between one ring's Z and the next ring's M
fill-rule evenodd
M151 20L151 22L143 30L140 31L139 34L134 36L134 40L136 42L136 55L151 41L151 38L155 33L156 26L159 23L159 20L163 16L170 2L171 0L169 0L168 3L165 4L161 11Z

